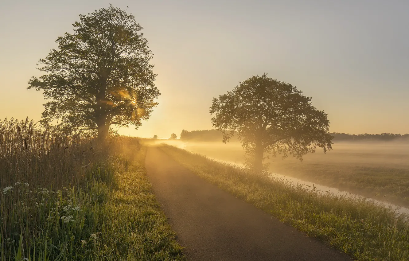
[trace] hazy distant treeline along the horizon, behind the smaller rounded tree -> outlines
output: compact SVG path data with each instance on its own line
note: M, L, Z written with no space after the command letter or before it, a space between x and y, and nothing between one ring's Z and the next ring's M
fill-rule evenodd
M405 139L409 141L409 134L348 134L333 132L333 141L393 141L398 139ZM182 130L180 133L180 139L182 141L196 141L196 142L221 142L223 135L218 130ZM231 142L236 141L235 137L231 138Z

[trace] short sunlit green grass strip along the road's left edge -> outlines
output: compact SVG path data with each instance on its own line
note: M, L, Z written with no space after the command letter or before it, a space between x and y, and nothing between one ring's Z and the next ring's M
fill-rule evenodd
M182 247L160 210L146 175L146 147L133 164L116 168L117 187L108 191L101 208L97 256L109 260L184 260Z

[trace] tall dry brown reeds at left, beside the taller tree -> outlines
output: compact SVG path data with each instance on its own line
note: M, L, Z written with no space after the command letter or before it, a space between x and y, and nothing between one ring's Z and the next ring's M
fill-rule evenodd
M0 121L0 184L77 185L90 164L101 160L92 142L85 133L65 135L28 118Z

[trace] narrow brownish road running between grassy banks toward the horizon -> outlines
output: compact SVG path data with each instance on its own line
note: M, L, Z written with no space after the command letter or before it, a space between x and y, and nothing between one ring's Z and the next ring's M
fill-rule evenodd
M351 261L199 178L156 147L146 169L190 261Z

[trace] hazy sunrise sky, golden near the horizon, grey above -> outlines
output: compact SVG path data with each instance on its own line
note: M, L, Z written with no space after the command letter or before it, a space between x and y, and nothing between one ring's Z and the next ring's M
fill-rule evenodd
M162 93L150 119L121 134L211 129L213 97L264 72L312 97L331 131L409 133L407 0L2 0L0 119L40 120L45 100L26 90L38 59L110 2L144 27Z

